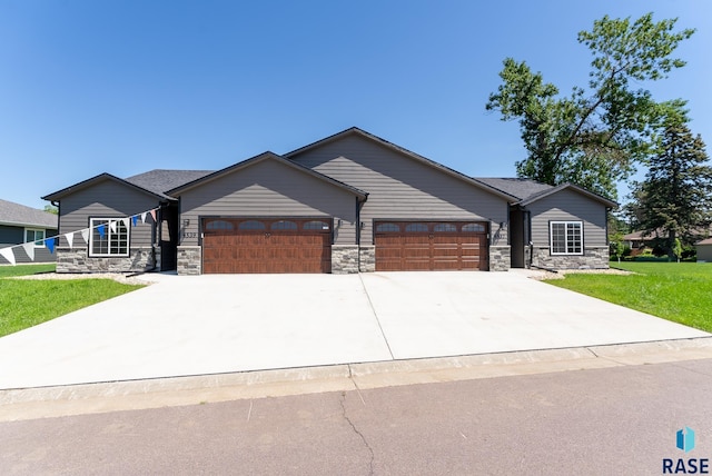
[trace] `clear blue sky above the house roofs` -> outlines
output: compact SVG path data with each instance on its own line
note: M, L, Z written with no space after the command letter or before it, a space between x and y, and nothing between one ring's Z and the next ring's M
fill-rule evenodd
M352 126L513 177L518 128L484 109L502 60L568 92L590 70L576 33L649 11L698 32L684 69L641 87L688 99L712 141L704 0L0 0L0 198L42 208L105 171L220 169Z

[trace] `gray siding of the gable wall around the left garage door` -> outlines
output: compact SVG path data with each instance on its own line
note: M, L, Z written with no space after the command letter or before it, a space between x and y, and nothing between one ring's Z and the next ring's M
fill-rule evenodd
M220 216L333 217L335 244L356 242L356 196L270 159L181 194L180 245L198 245L200 218ZM185 220L189 220L187 227Z

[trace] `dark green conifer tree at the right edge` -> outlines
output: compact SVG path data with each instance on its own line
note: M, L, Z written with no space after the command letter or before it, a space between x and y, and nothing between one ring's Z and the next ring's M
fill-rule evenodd
M670 123L635 195L642 227L665 231L668 256L679 257L676 240L694 241L712 221L712 167L702 138L684 123Z

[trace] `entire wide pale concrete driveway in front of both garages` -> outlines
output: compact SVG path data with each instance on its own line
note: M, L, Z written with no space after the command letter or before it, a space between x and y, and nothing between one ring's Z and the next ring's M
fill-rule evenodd
M518 271L146 278L0 338L0 389L710 336Z

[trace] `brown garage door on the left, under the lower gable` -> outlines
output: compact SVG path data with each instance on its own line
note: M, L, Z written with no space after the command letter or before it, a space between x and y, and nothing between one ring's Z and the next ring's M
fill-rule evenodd
M332 219L206 218L202 272L330 272Z

